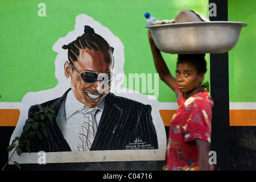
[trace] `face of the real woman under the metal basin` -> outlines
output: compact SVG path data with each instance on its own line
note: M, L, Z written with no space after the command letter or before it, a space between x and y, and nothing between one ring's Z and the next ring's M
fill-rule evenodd
M191 97L201 92L201 82L204 74L198 74L194 65L188 63L179 63L176 68L177 86L185 97Z

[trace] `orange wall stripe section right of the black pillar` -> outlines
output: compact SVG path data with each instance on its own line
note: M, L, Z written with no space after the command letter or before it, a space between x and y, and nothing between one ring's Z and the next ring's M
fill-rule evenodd
M230 126L256 126L256 110L229 110Z

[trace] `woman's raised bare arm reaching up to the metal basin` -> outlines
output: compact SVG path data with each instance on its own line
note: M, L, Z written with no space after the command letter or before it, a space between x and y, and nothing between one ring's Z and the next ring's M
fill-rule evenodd
M160 79L163 80L172 90L175 90L176 79L171 75L166 63L163 60L160 50L155 46L150 31L148 31L148 40L150 42L155 68Z

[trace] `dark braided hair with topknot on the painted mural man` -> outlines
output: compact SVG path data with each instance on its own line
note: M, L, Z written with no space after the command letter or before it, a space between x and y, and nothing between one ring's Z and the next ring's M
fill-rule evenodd
M84 34L77 37L76 40L64 45L63 49L68 49L68 60L69 63L73 64L73 61L77 61L80 49L90 49L92 51L110 51L112 54L114 48L109 46L109 43L106 42L102 36L96 34L92 27L84 26Z

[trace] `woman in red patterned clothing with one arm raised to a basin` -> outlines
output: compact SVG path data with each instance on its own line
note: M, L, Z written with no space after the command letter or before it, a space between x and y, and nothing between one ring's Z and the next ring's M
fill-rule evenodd
M207 71L204 54L179 55L176 78L167 68L159 49L148 31L156 71L174 90L179 109L170 122L166 164L163 169L210 170L210 121L213 101L207 90L201 88Z

